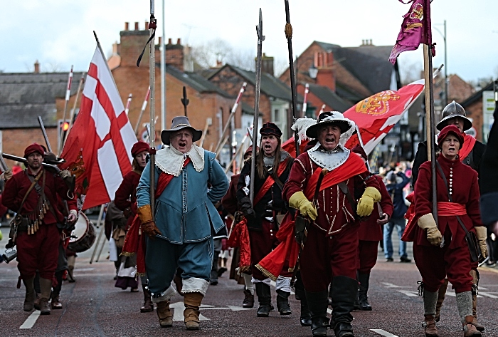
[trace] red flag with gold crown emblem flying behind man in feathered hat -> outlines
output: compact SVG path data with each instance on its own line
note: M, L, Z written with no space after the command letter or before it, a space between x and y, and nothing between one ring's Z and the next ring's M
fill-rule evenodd
M367 155L408 112L423 90L424 80L418 80L397 91L385 90L371 95L346 110L344 117L358 125ZM346 147L351 149L358 144L358 135L354 134L346 142Z

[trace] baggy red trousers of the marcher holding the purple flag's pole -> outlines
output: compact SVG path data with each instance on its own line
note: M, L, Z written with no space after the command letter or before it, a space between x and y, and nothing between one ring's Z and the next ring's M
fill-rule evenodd
M440 248L413 244L413 259L427 291L438 291L445 277L456 293L472 290L467 245L450 249L448 246Z

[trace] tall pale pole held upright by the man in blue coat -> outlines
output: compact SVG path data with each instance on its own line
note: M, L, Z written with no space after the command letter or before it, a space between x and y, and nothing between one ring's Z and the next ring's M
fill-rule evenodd
M155 46L154 46L154 35L156 33L157 20L154 17L154 0L150 0L150 21L149 21L149 33L150 33L150 44L149 44L149 85L150 85L150 207L155 209L155 165L156 162L156 100L155 100L155 89L156 89L156 73L155 67L156 62L154 59ZM152 213L152 220L154 220L154 213Z

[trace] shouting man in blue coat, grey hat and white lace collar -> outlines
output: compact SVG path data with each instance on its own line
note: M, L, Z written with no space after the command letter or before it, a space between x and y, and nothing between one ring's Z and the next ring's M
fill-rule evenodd
M224 226L213 203L226 194L228 180L215 154L193 144L201 135L183 116L173 118L171 129L162 131L161 140L169 147L157 151L154 162L155 222L150 206L151 162L137 187L137 214L148 237L149 290L161 327L173 325L169 300L176 291L171 281L176 269L181 269L185 326L198 330L199 306L211 276L212 233Z

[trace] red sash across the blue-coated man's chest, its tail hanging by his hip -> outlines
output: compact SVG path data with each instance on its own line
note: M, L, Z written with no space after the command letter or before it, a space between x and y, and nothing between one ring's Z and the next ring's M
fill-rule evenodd
M184 162L184 167L190 162L190 157L187 157ZM157 180L157 188L154 193L154 198L158 199L162 192L166 189L169 182L174 178L174 175L168 173L160 172L159 179ZM145 236L140 235L140 219L138 214L133 218L132 226L129 227L126 237L124 238L124 244L122 253L120 255L132 256L137 254L137 275L145 276Z

